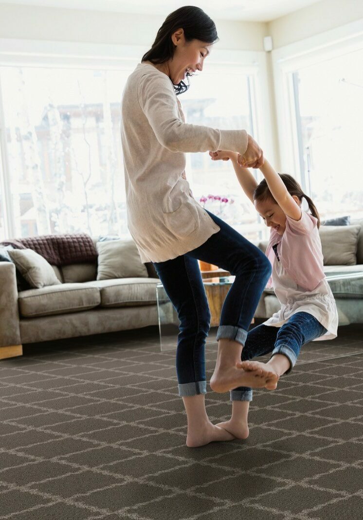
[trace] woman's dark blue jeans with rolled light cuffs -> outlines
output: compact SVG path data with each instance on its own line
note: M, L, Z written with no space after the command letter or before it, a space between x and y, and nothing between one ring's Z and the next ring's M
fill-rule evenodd
M220 227L204 244L153 265L179 318L176 373L179 396L206 394L205 340L211 313L198 259L229 271L235 280L222 307L217 340L244 345L263 289L271 275L268 258L240 233L208 212Z

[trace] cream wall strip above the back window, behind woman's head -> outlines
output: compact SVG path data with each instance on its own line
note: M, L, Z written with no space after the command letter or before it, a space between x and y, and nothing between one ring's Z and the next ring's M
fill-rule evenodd
M165 17L169 14L165 10ZM144 45L165 17L0 4L0 38ZM215 20L220 49L262 50L267 24ZM216 46L216 48L217 48Z

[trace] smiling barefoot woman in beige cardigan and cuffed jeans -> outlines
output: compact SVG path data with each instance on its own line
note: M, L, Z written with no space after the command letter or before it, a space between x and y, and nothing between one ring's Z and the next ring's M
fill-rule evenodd
M203 70L217 40L213 20L198 7L172 12L129 76L121 107L128 227L142 262L153 263L178 313L176 371L189 447L234 438L212 424L205 410L204 348L211 316L198 259L235 275L217 332L211 379L216 392L240 386L236 363L271 274L259 249L193 199L185 176L185 152L233 150L245 166L263 164L262 150L245 130L185 123L177 95L188 88L188 76Z

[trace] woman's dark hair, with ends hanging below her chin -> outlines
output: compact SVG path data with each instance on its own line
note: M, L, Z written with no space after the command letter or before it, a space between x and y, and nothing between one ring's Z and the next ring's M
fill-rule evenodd
M175 45L172 42L172 34L178 29L184 29L187 42L200 40L212 44L218 40L217 29L214 21L199 7L184 6L173 11L164 21L156 35L155 42L150 50L144 54L141 61L151 63L164 63L173 58ZM183 94L189 88L189 72L187 73L188 84L181 81L174 85L176 95Z

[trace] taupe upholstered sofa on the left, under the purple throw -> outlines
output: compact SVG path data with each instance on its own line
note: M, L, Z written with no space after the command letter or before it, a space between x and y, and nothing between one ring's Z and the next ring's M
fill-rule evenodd
M15 265L0 262L0 359L22 355L23 343L158 324L152 264L148 278L98 281L96 263L52 267L60 285L18 293Z

